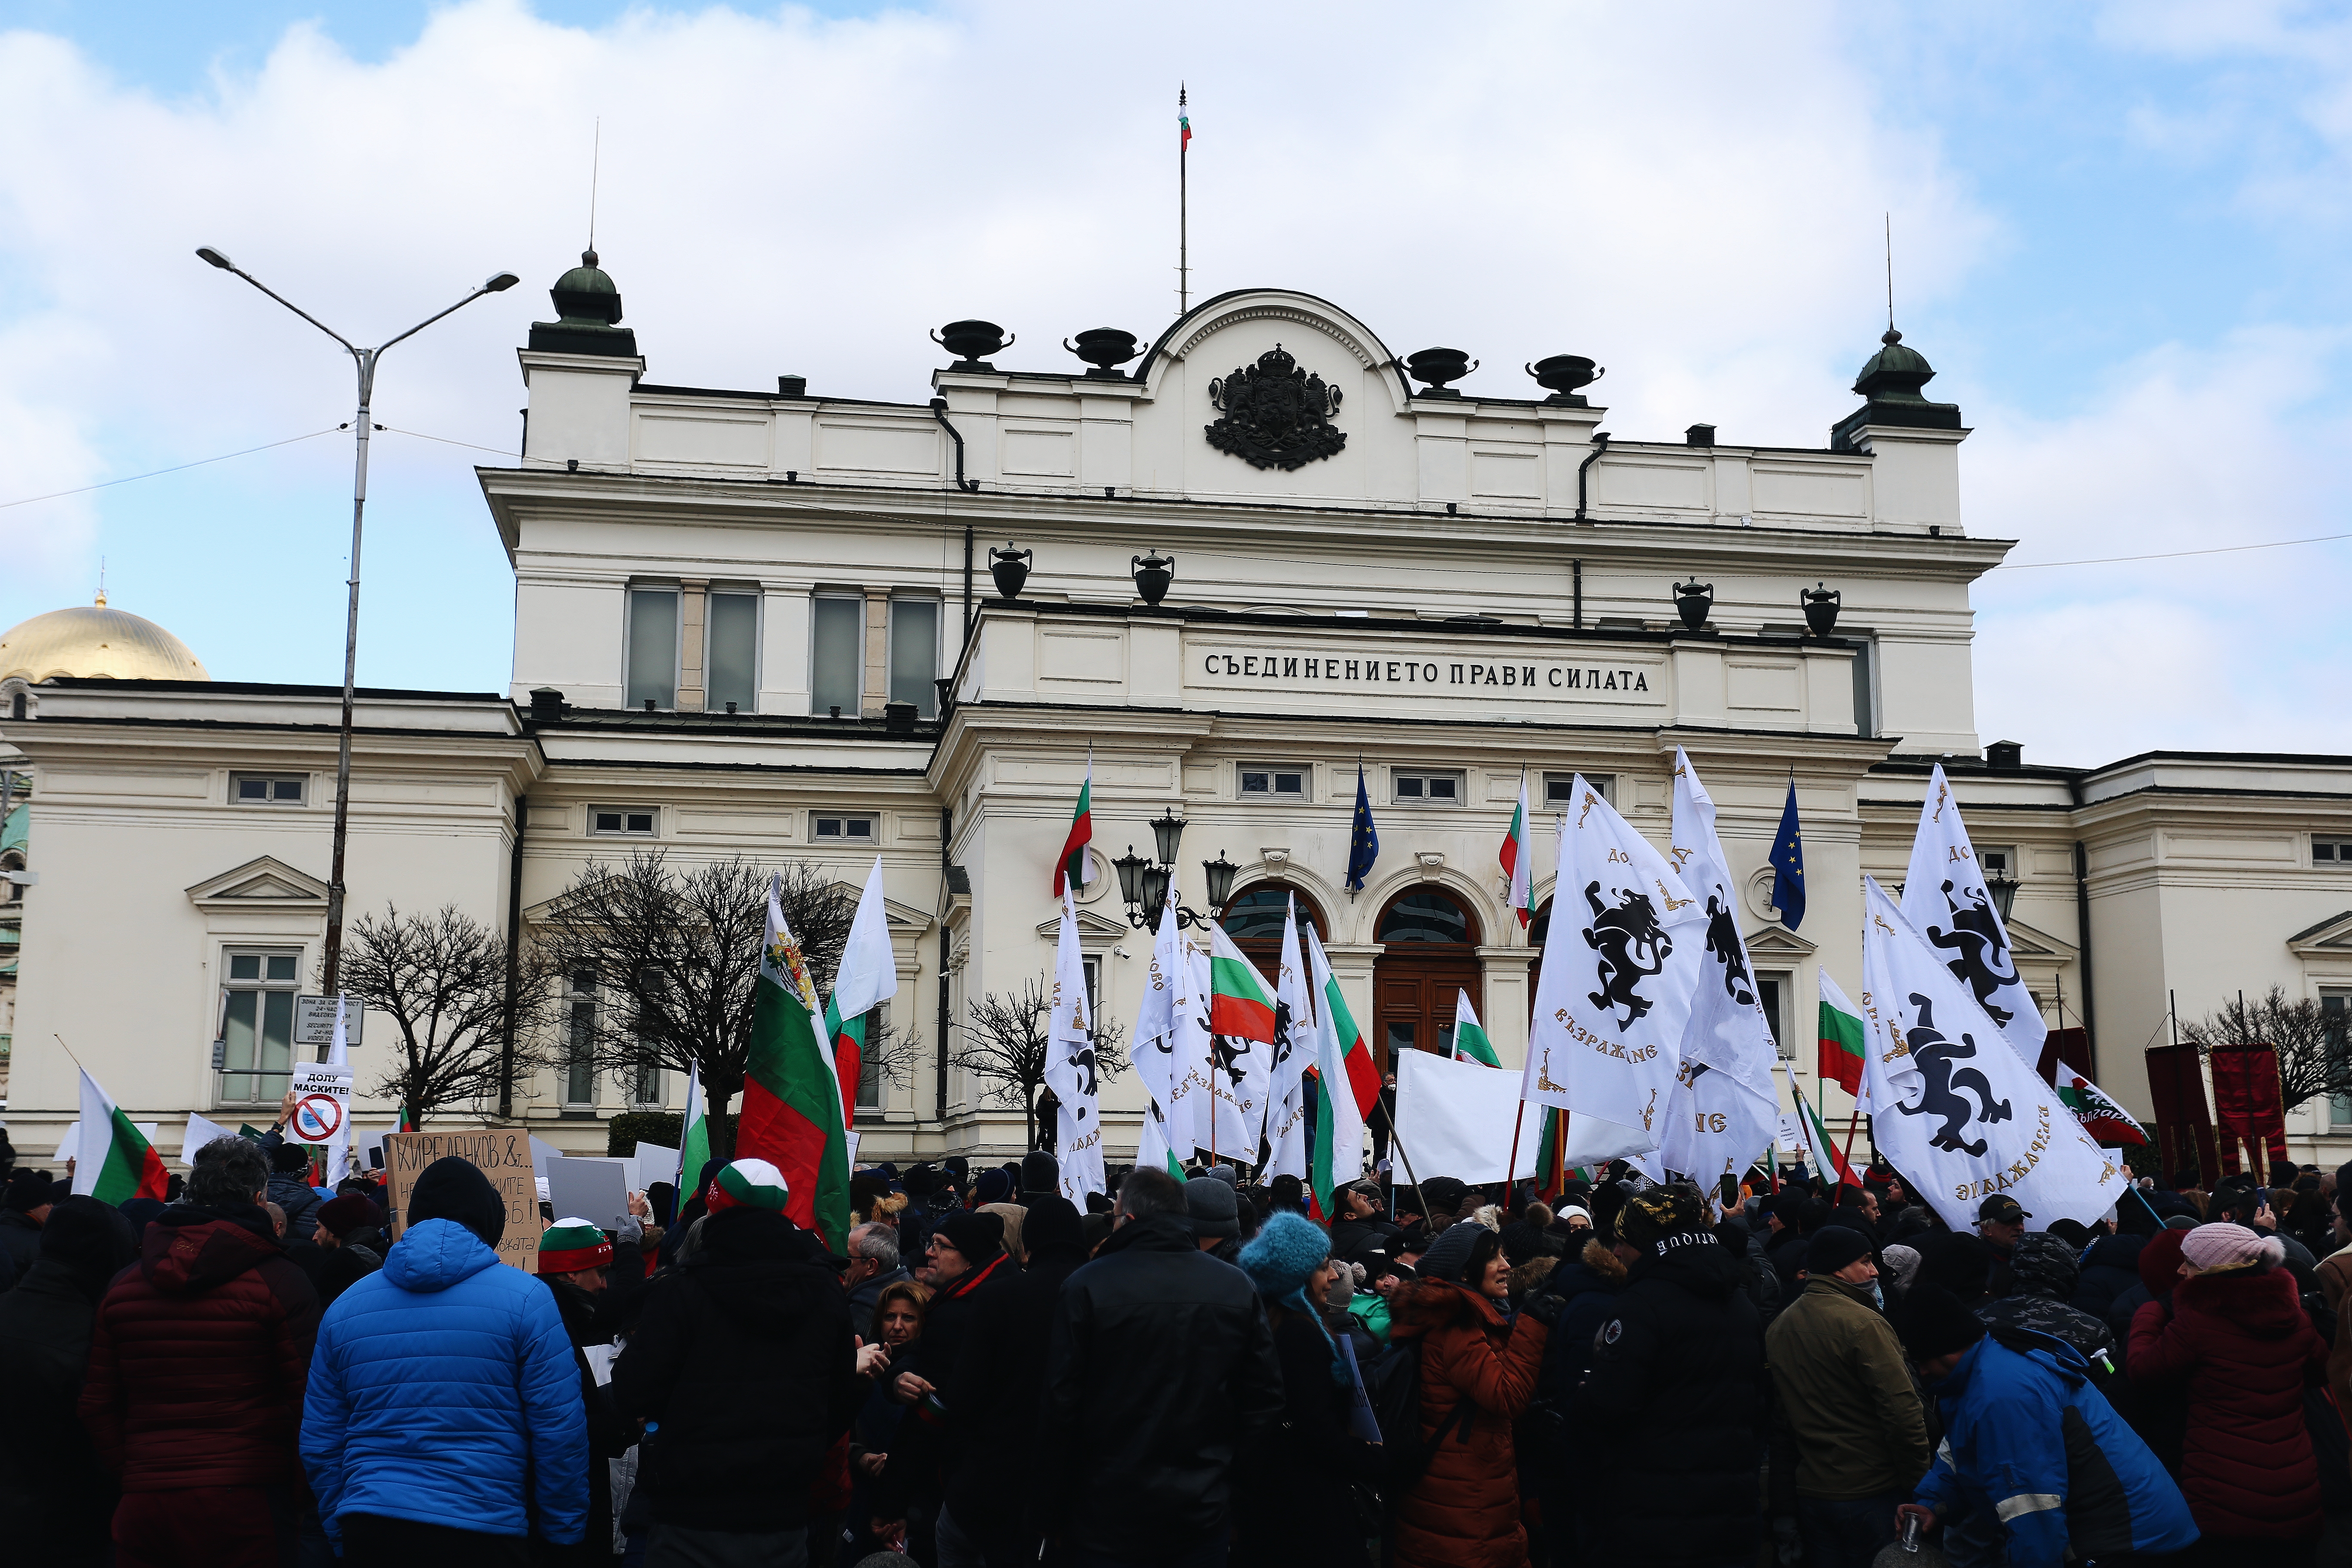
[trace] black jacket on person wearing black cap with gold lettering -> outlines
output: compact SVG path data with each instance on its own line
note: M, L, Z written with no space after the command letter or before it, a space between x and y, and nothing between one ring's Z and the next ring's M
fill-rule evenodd
M1769 1373L1743 1260L1712 1234L1658 1239L1632 1265L1576 1392L1576 1429L1611 1432L1592 1476L1599 1561L1752 1563Z

